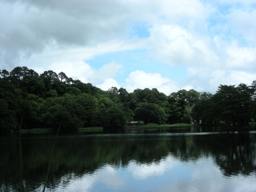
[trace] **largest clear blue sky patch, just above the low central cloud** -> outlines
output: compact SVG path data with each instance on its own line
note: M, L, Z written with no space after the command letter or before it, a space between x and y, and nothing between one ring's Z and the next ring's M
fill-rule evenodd
M151 56L147 50L109 52L85 62L93 68L99 69L113 61L122 65L120 73L115 76L116 81L120 82L120 84L124 83L129 74L136 70L151 74L158 73L171 81L179 81L187 74L186 67L170 66L163 63Z

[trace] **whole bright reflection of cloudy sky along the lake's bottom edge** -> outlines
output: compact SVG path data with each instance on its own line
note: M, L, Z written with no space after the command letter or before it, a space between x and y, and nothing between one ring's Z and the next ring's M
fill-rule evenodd
M105 164L56 191L255 191L255 174L244 182L241 175L223 176L213 165L211 157L183 162L172 156L158 163L130 161L125 169Z

